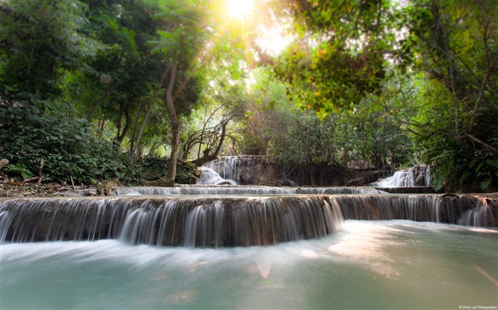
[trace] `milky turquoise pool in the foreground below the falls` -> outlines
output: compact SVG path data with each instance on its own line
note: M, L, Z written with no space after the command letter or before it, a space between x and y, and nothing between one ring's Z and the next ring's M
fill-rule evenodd
M319 240L187 249L119 240L0 245L1 309L498 306L498 231L345 221Z

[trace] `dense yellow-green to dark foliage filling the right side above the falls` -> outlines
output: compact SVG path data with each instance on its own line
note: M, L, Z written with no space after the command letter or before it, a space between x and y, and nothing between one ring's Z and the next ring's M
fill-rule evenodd
M436 187L497 188L495 1L286 4L298 40L275 75L300 109L343 128L336 152L433 164Z

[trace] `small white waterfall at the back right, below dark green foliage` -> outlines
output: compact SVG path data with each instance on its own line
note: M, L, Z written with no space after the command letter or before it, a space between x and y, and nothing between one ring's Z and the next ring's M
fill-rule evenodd
M391 177L371 184L373 187L430 187L430 166L415 166L394 172Z

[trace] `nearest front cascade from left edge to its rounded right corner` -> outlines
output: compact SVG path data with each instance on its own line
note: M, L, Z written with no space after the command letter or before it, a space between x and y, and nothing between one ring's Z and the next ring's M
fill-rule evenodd
M4 242L120 239L186 247L270 245L337 231L323 196L149 196L14 199L0 203Z

